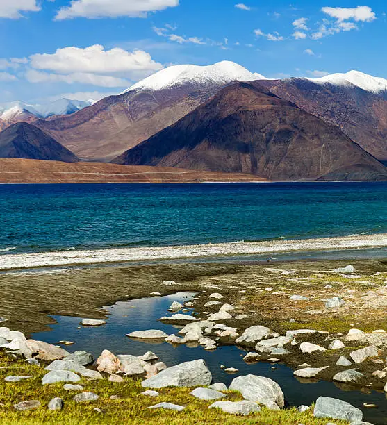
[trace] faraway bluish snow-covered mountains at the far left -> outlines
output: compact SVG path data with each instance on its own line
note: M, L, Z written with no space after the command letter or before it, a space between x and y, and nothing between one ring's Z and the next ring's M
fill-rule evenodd
M0 104L0 119L6 122L24 117L48 118L52 115L68 115L92 105L92 101L58 99L45 105L29 105L21 101Z

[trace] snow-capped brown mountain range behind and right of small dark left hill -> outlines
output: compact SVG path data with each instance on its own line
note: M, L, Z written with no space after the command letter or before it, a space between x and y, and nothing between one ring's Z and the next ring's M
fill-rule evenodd
M72 108L20 107L16 117L87 161L274 180L387 178L387 81L361 72L275 80L230 62L177 65Z

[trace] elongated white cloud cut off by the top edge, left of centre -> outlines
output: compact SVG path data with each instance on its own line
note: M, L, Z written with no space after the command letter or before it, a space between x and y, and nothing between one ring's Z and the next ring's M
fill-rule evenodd
M58 10L55 19L86 17L147 17L149 12L179 6L179 0L72 0Z

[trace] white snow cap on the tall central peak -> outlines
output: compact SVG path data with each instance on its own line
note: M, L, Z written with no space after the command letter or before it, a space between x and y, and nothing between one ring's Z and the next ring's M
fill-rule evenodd
M142 81L135 83L124 93L132 90L163 90L191 83L194 85L224 85L232 81L265 80L261 74L249 72L233 62L219 62L214 65L174 65L161 69Z

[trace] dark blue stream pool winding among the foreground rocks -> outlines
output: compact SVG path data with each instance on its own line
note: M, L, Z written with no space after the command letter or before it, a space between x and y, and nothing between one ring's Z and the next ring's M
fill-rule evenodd
M131 340L126 333L144 331L147 329L161 329L165 333L177 333L176 326L163 324L158 319L167 315L167 308L173 301L184 303L194 297L192 293L178 293L167 297L138 299L115 303L106 307L109 319L106 325L97 328L79 328L79 317L58 316L58 324L52 326L52 331L35 333L33 339L44 340L57 344L60 340L74 341L71 351L85 350L95 357L103 349L115 354L133 354L141 356L146 351L154 351L167 366L176 365L189 360L203 358L213 374L213 382L223 382L229 385L238 375L256 374L267 376L277 381L285 394L286 402L290 406L311 404L320 395L336 397L352 403L364 412L364 420L374 424L386 424L387 401L385 394L367 389L354 388L349 385L330 383L318 380L300 380L293 376L293 370L277 363L273 367L270 363L245 363L242 357L245 351L238 347L219 347L215 351L205 351L197 344L172 346L166 342L143 342ZM192 311L192 310L190 310ZM190 313L187 313L190 314ZM68 347L66 347L68 349ZM227 374L220 365L236 367L238 374ZM307 385L307 386L306 386ZM363 403L375 403L378 409L365 409Z

